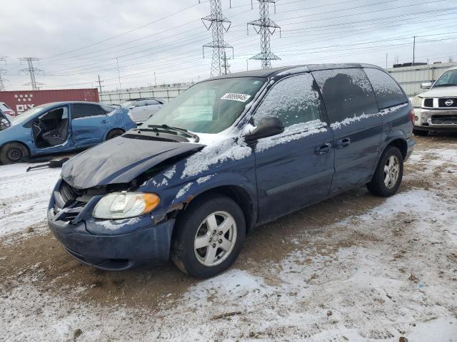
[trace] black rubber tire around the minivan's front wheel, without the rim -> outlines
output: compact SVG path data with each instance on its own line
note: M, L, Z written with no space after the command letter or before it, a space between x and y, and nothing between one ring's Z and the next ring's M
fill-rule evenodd
M231 252L224 252L216 246L216 259L226 253L226 256L220 264L207 266L202 264L197 255L204 259L200 253L204 252L205 256L211 247L203 247L203 249L194 249L197 232L200 229L205 229L204 222L207 217L213 213L226 212L231 215L231 219L236 223L236 227L231 225L232 230L236 231L235 241L232 243ZM219 223L219 222L218 222ZM210 232L211 234L211 232ZM206 237L206 235L204 235ZM223 237L228 235L224 234ZM171 260L181 269L181 271L194 276L196 278L210 278L226 269L236 261L238 254L243 247L244 238L246 236L246 222L241 208L230 197L218 194L202 195L194 199L189 207L184 212L181 212L174 228L173 240L171 242ZM219 237L217 237L219 239ZM215 240L214 240L215 241ZM222 240L219 240L221 242ZM212 245L214 247L215 244ZM218 245L219 246L219 245ZM219 253L219 254L217 254ZM219 261L216 261L219 262Z

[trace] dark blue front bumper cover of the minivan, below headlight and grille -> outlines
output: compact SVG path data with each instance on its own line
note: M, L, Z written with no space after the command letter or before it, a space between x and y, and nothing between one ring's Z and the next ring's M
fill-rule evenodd
M50 216L49 212L51 232L66 252L84 264L121 271L169 259L173 219L127 234L96 235L87 232L84 221L72 225L53 221Z

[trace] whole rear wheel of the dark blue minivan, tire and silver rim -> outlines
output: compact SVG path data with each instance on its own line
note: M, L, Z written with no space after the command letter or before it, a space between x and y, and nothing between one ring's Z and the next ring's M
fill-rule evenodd
M373 195L389 197L395 195L403 178L403 155L395 146L384 150L376 172L366 187Z

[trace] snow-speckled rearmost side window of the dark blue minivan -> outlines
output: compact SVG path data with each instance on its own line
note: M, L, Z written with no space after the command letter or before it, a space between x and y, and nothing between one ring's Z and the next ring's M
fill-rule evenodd
M371 86L373 86L379 108L388 108L408 102L403 90L388 73L372 68L366 68L365 72L371 82Z

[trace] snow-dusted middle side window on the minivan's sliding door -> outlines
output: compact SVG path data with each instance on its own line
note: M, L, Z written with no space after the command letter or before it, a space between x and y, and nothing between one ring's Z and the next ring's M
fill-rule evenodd
M331 123L378 113L370 81L362 69L314 71Z

